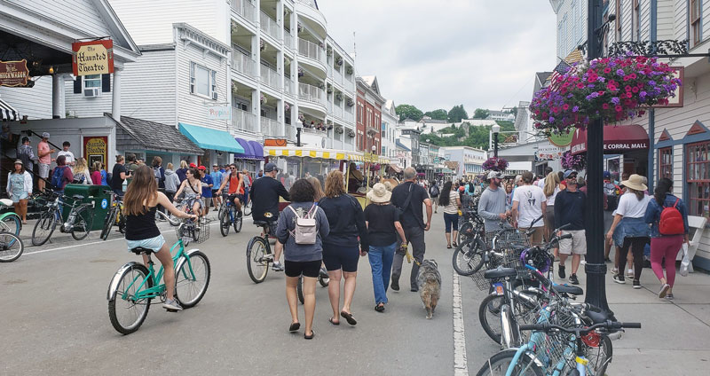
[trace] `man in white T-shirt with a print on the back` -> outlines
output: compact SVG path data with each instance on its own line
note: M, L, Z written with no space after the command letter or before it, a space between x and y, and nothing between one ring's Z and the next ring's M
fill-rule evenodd
M516 228L528 229L532 226L534 232L530 235L530 243L538 245L542 243L542 234L545 228L542 213L545 213L548 203L542 189L533 184L534 177L530 171L523 173L523 185L517 187L513 192L512 217L513 226ZM574 178L576 179L577 176Z

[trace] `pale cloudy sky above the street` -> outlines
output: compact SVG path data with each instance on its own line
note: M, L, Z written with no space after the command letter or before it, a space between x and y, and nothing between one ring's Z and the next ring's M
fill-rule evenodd
M359 75L422 111L501 109L533 96L533 74L556 63L548 0L319 0L328 33L357 43Z

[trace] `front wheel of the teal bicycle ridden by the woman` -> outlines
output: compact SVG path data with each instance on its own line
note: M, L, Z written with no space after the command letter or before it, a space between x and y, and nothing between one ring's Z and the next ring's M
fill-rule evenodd
M175 297L183 308L199 303L209 286L209 260L200 251L195 251L177 262L175 273Z

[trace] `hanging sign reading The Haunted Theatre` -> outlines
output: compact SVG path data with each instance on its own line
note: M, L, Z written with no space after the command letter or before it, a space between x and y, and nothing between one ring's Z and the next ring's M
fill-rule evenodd
M75 76L114 73L114 41L72 43L72 70Z

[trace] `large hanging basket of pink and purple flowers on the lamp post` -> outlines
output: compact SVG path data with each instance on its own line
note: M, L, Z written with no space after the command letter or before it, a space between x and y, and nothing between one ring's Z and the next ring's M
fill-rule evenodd
M602 119L613 123L645 114L675 97L681 81L657 58L621 56L574 66L535 93L530 110L537 129L559 133Z

